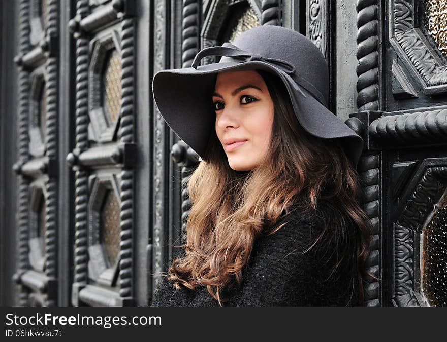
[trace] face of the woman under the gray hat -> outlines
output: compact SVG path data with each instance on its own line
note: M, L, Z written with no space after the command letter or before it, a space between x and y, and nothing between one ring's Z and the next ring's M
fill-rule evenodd
M216 134L233 170L248 171L267 154L274 105L255 70L217 74L213 94Z

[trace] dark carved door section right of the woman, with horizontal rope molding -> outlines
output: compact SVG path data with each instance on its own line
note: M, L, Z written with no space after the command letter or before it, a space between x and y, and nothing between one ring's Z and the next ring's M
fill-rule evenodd
M447 5L366 3L358 6L355 116L367 128L359 167L375 216L369 262L382 272L371 270L383 305L445 306ZM378 290L371 285L370 293Z

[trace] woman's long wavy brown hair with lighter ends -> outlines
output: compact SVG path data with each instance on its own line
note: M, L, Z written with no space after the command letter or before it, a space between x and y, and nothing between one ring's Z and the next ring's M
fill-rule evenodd
M340 215L335 215L335 227L326 226L316 241L323 236L351 236L353 246L338 264L354 260L353 277L358 278L363 302L362 275L371 227L359 206L358 174L338 141L328 143L302 128L282 81L257 71L274 103L267 156L253 170L234 171L215 132L211 134L203 161L187 183L193 206L186 225L185 253L173 261L169 279L178 289L206 286L222 305L222 290L242 282L256 238L265 230L274 234L285 224L278 224L282 215L291 210L312 211L318 201L328 199ZM345 232L345 217L355 222L354 231Z

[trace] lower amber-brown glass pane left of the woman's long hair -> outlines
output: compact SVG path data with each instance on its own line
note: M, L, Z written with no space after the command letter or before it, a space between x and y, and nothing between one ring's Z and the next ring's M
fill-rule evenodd
M103 208L101 210L101 237L102 243L106 249L109 264L113 266L119 253L119 203L115 193L110 190L104 198Z

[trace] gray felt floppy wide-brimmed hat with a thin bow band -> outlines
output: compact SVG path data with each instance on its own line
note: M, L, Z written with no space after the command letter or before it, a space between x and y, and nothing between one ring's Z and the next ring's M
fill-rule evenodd
M218 63L199 65L206 56ZM155 103L171 129L203 156L215 117L212 107L216 75L222 71L266 70L284 82L301 126L311 135L341 139L354 166L363 139L328 107L329 72L321 51L299 32L280 26L258 26L232 43L201 50L191 67L158 71L152 81Z

